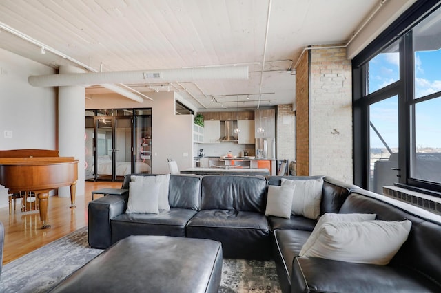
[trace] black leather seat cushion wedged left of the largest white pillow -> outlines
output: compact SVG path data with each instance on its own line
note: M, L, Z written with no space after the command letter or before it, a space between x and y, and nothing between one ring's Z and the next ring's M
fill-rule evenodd
M273 255L282 292L291 292L292 262L300 254L311 232L275 230Z

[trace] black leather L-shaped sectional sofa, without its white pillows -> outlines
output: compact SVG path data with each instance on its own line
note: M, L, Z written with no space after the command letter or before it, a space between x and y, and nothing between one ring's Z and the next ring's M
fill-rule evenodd
M409 204L323 177L320 214L372 213L384 221L412 222L407 241L388 265L300 257L316 220L265 216L269 185L281 179L170 175L170 211L125 213L127 195L90 202L89 243L107 248L128 235L168 235L220 241L223 256L274 259L283 292L441 292L440 217ZM128 188L126 175L122 188Z

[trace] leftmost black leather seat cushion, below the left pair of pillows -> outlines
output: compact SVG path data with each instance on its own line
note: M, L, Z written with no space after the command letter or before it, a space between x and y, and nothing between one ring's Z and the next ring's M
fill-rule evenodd
M130 235L185 237L185 225L196 213L196 210L171 208L158 214L121 214L111 221L112 243Z

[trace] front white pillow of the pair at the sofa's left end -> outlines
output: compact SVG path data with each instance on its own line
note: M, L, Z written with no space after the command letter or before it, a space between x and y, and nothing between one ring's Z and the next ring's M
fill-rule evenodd
M160 182L129 182L129 201L125 213L158 214Z

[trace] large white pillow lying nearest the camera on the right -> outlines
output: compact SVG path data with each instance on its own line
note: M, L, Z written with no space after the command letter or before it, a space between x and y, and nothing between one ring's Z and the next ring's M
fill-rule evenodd
M407 240L411 221L327 222L302 257L387 265Z

